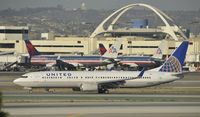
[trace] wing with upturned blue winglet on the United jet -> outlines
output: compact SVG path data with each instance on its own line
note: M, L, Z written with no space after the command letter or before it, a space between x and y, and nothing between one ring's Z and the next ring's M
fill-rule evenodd
M103 87L107 87L107 88L115 88L115 87L118 87L119 85L123 85L124 83L126 83L126 80L133 80L133 79L138 79L142 77L144 72L145 72L145 69L143 69L136 77L126 78L126 79L116 79L112 81L103 81L103 82L99 82L99 85Z

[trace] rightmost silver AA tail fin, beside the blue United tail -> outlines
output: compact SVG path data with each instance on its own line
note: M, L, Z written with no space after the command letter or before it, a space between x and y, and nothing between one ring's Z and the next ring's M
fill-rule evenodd
M166 49L167 49L167 46L166 46L165 40L162 40L152 57L156 59L162 59L163 51Z

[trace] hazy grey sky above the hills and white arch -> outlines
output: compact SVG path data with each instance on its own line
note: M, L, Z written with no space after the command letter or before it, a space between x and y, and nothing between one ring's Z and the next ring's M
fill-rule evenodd
M7 8L50 7L63 5L79 8L85 2L88 9L116 9L131 3L147 3L162 10L199 10L200 0L0 0L0 10Z

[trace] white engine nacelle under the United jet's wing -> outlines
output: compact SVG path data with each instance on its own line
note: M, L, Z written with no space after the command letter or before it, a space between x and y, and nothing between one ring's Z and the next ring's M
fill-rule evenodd
M96 83L83 83L80 86L81 91L97 91L98 85Z

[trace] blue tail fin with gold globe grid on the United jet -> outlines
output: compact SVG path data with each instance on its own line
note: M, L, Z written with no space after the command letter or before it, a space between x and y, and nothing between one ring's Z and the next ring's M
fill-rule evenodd
M155 68L152 71L156 70L160 72L182 72L188 45L188 41L183 41L162 66Z

